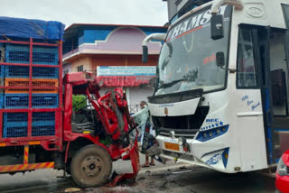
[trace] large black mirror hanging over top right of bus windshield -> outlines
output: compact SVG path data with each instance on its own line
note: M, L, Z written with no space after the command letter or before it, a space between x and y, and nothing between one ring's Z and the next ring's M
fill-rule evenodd
M214 41L224 37L224 17L222 14L212 14L210 18L210 38Z

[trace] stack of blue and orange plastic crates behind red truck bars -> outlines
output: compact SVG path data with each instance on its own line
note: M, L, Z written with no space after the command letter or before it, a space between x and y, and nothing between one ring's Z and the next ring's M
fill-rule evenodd
M54 136L61 111L61 44L19 36L11 40L0 42L2 138Z

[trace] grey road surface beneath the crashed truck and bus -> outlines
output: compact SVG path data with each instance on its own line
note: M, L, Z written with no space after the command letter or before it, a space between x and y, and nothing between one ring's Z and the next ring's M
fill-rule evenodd
M144 161L144 155L141 156ZM192 193L274 193L275 179L257 172L225 174L197 166L175 164L156 166L141 170L136 182L126 181L116 188L79 189L71 178L57 178L62 171L37 170L29 173L14 174L14 176L0 175L0 192L3 193L61 193L68 190L76 192L192 192ZM184 167L181 167L183 166ZM181 168L180 168L181 167ZM129 172L130 161L114 163L117 172ZM72 188L72 189L71 189Z

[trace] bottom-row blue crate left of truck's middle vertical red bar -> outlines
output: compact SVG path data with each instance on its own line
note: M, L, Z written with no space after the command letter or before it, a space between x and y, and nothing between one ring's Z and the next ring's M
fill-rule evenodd
M28 125L4 124L3 138L27 137Z

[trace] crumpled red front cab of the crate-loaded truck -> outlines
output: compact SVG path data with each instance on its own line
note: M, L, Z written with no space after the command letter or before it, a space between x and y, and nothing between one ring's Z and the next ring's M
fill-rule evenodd
M81 181L83 178L87 179L85 181L91 179L91 183L96 183L97 179L105 182L111 174L111 161L123 159L132 161L134 172L118 175L109 186L116 185L121 179L135 179L140 169L139 157L136 138L133 140L129 138L129 133L135 130L135 122L128 112L126 94L121 87L117 87L107 92L106 95L100 96L97 80L86 79L89 76L91 74L79 72L67 74L64 77L64 140L69 142L67 149L70 149L70 142L88 139L107 153L103 152L101 156L95 155L98 152L97 148L92 150L93 148L89 146L91 155L86 155L81 159L67 157L70 155L67 154L66 161L71 160L72 178L81 187L90 187L85 184L86 182ZM89 105L80 108L78 112L73 112L72 95L85 95ZM86 149L84 147L74 153L81 155L81 152L87 151ZM107 161L99 161L100 157L107 157ZM74 160L77 161L74 162ZM104 172L100 172L101 170ZM100 176L96 178L99 172Z

